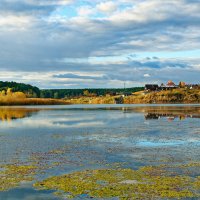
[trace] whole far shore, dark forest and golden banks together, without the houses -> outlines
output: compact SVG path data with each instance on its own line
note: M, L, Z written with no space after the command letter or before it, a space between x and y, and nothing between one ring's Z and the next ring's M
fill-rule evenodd
M0 81L0 94L0 105L200 103L200 87L151 92L144 90L143 87L40 90L24 83Z

